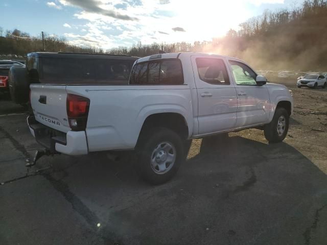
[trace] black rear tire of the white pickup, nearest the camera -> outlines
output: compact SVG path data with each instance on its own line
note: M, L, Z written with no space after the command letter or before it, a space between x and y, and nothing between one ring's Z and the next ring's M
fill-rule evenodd
M169 154L175 155L174 162L169 163L168 161L166 163L166 161L161 162L161 159L159 159L160 163L158 163L156 158L159 156L160 151L162 151L160 149L165 148L167 144L173 146ZM155 127L142 133L136 146L138 174L150 184L166 183L175 176L180 164L185 159L183 145L184 142L181 137L170 129ZM155 150L156 153L154 153ZM157 164L155 167L153 162L154 165ZM160 173L159 165L166 168L166 170Z

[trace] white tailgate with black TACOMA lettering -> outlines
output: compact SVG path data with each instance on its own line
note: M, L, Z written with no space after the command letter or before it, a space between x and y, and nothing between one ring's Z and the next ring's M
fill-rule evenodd
M65 85L31 85L31 105L35 119L61 132L69 128L66 111Z

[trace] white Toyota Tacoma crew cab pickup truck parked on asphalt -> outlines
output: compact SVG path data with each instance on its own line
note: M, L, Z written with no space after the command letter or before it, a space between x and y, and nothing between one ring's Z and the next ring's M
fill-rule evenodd
M32 135L51 153L137 150L141 176L176 174L183 141L247 128L286 137L290 91L236 58L170 53L135 61L126 85L32 84Z

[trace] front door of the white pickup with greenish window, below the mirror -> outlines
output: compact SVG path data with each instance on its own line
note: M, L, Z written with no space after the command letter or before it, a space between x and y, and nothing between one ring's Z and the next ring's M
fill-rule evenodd
M246 64L229 60L237 96L236 128L263 124L269 121L270 100L266 85L256 85L255 72Z

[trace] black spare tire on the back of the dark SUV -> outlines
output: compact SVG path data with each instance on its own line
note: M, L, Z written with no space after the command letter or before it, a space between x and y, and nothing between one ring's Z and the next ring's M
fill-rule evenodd
M21 66L12 66L8 75L11 100L16 104L29 101L30 84L27 79L27 69Z

